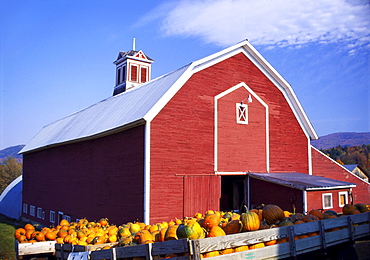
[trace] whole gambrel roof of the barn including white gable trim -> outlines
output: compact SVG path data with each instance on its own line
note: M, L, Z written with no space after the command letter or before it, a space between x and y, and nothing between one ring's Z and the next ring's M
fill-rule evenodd
M245 40L45 126L20 153L94 139L150 122L194 73L238 53L245 54L275 84L289 103L306 136L317 139L291 86Z

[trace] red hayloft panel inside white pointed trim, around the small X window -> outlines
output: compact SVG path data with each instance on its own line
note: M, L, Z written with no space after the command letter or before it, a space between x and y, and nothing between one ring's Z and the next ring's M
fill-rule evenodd
M266 108L256 99L247 103L245 99L249 94L244 87L240 87L217 101L217 171L268 171ZM243 100L248 106L248 124L237 124L236 103ZM253 168L246 169L246 165Z

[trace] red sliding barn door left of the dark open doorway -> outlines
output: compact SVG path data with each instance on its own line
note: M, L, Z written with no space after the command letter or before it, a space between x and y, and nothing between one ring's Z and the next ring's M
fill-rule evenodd
M196 212L219 210L221 177L215 175L184 176L184 216Z

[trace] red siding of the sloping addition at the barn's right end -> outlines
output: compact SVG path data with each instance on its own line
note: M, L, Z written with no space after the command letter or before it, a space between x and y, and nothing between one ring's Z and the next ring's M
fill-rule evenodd
M370 201L370 185L356 175L349 173L332 159L312 148L312 171L313 175L346 181L356 184L353 191L353 202L368 203Z

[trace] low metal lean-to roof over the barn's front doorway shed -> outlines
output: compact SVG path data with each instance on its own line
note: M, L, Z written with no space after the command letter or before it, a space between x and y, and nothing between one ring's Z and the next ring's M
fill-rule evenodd
M352 188L356 186L356 184L350 182L338 181L321 176L309 175L299 172L248 173L248 175L255 179L299 190L339 189L339 188Z

